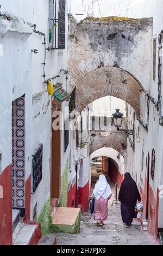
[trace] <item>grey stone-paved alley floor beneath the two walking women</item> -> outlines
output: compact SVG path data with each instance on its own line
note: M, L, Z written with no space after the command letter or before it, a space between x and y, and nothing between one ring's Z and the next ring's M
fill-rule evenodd
M94 172L92 189L98 176ZM143 231L140 222L135 220L130 229L126 228L121 218L120 202L112 205L115 200L115 185L110 183L110 186L113 194L108 203L108 220L104 226L96 226L89 210L82 214L80 234L53 234L57 235L58 245L158 245L154 237Z

